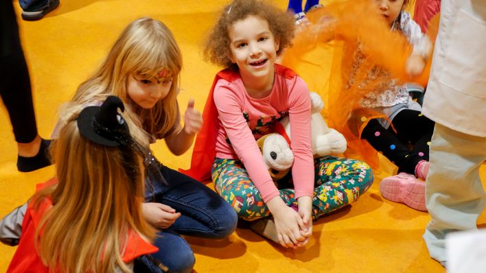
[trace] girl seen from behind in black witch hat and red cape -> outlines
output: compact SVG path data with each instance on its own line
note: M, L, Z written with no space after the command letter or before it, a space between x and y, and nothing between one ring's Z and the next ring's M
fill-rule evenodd
M118 109L108 97L60 130L56 178L0 222L1 241L19 244L7 272L132 272L134 259L157 252L142 213L142 150Z

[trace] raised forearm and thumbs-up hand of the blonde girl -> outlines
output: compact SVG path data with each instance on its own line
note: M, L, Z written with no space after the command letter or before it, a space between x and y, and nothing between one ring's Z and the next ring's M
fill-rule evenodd
M203 117L198 110L194 109L194 99L189 99L184 114L184 128L180 125L169 136L165 137L165 143L170 152L176 156L184 154L194 141L194 136L203 126Z

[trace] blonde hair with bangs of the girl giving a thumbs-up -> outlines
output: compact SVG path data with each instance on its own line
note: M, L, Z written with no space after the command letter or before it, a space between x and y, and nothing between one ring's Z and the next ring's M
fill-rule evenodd
M157 75L165 69L173 76L169 93L154 107L143 109L127 95L126 82L131 73ZM178 121L177 92L182 69L182 54L172 32L162 22L143 17L130 23L95 73L80 84L63 118L70 117L89 102L102 102L116 95L126 105L126 121L132 137L148 145L148 134L165 137Z

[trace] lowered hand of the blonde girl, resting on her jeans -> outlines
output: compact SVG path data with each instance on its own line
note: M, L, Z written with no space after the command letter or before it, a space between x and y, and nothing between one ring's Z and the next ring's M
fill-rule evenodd
M176 213L175 209L161 203L143 203L143 217L157 228L168 228L172 226L181 213Z

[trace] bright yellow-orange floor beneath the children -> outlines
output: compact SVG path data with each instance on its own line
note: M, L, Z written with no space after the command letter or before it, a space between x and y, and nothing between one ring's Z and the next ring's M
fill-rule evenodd
M20 20L40 135L49 137L60 104L100 64L119 32L139 16L152 16L172 29L185 64L179 102L185 105L194 97L196 108L203 110L218 68L203 62L200 45L224 3L227 1L61 0L60 7L43 20ZM286 8L286 1L279 0L277 5ZM16 11L20 11L17 4ZM313 88L316 82L326 81L324 72L323 77L309 74L304 78ZM7 112L3 104L0 107L1 217L25 202L34 185L50 178L54 169L29 174L16 171L16 143ZM153 149L169 167L189 165L190 153L173 156L163 143ZM228 239L187 238L196 253L196 272L444 272L428 257L421 239L428 214L381 197L380 180L393 171L393 165L382 159L373 187L355 204L315 222L310 244L300 250L269 244L246 226ZM486 178L484 166L481 174ZM485 215L479 223L485 225ZM5 272L14 250L0 244L0 272Z

